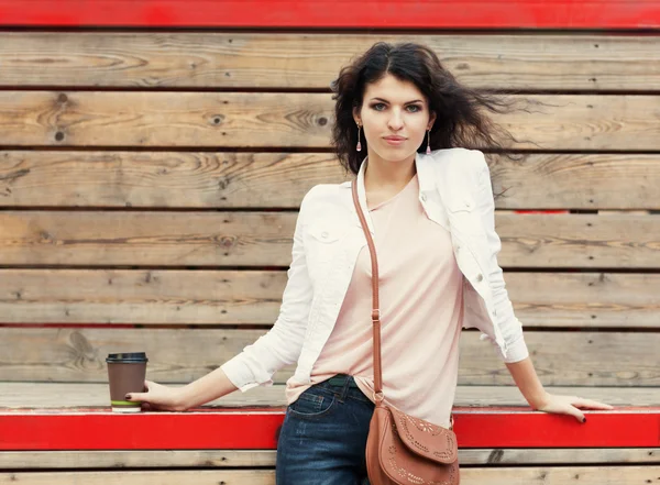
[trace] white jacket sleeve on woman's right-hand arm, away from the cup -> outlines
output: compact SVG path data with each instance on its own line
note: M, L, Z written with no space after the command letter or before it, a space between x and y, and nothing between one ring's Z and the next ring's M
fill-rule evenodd
M497 323L502 330L502 337L506 342L506 353L499 352L502 359L506 363L519 362L529 355L525 337L522 334L522 324L514 313L514 306L508 297L506 284L504 282L503 271L497 263L497 254L502 249L499 235L495 231L495 200L493 196L493 187L491 185L491 170L480 151L473 151L475 154L474 162L477 169L477 207L476 210L482 219L482 224L486 235L486 251L488 263L488 284L493 293L493 300ZM488 337L490 340L492 340ZM492 342L494 343L494 342ZM499 346L497 350L499 350Z

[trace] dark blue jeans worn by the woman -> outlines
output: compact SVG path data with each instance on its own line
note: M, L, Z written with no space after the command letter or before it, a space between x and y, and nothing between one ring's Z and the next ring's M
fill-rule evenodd
M277 485L369 485L364 449L374 404L348 375L305 390L286 410Z

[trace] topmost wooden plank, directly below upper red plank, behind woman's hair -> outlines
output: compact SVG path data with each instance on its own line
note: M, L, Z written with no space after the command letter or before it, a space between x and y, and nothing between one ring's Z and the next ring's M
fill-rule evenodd
M459 81L477 88L660 86L658 36L238 32L1 32L0 86L328 89L377 41L426 44Z

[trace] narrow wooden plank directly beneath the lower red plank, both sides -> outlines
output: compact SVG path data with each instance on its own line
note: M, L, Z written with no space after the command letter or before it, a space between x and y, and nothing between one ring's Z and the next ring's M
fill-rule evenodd
M276 450L6 451L0 469L273 467ZM660 448L460 449L461 465L660 464Z

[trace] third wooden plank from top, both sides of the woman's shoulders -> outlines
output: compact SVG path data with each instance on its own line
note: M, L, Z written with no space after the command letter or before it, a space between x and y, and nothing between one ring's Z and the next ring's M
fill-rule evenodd
M499 209L660 209L659 155L487 157ZM350 178L327 153L6 151L0 207L297 209Z

